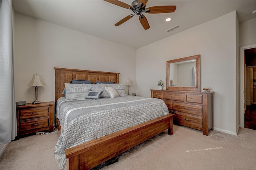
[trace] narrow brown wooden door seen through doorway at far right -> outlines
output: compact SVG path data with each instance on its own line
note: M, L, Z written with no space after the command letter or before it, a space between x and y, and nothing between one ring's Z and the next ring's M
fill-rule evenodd
M253 104L253 69L247 67L247 105Z

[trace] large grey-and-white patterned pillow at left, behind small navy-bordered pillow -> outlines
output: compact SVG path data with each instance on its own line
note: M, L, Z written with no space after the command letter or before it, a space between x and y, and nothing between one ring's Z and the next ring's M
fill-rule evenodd
M87 84L70 84L65 83L66 88L66 99L78 100L85 99L88 95L91 87Z

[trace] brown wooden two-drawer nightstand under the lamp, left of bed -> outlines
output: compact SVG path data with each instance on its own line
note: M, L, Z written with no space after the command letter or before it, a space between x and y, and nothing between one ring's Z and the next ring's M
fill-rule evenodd
M16 106L17 111L17 139L20 135L53 131L54 102L42 102L39 104L26 103Z

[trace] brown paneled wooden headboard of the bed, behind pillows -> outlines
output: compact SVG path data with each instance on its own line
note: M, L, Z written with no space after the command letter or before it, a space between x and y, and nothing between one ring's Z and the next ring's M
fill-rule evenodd
M80 70L80 69L65 69L65 68L56 68L55 69L55 102L60 97L64 97L62 95L62 91L65 88L64 83L69 83L71 80L89 80L94 84L96 81L114 81L115 83L119 83L119 74L120 73L112 73L112 72L104 72L104 71L90 71L90 70Z

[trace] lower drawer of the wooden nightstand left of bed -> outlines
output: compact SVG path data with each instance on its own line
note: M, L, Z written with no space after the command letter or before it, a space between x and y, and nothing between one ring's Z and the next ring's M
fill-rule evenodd
M20 122L20 132L43 127L48 127L48 118Z

